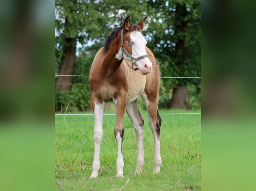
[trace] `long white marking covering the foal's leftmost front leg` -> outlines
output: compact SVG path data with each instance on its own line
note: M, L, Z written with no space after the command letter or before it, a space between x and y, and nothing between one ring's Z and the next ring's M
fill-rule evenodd
M94 157L93 157L93 172L90 178L97 178L100 169L100 146L103 135L102 123L105 102L96 104L94 107Z

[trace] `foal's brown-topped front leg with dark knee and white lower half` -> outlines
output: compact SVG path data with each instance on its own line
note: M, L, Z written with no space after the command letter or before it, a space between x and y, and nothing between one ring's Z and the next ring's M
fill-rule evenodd
M117 161L116 161L116 167L117 167L117 177L123 177L123 167L124 167L124 158L122 153L122 144L124 139L124 127L123 127L123 121L124 121L124 112L126 107L126 95L121 98L113 99L115 105L116 105L116 126L114 129L116 141L117 141Z

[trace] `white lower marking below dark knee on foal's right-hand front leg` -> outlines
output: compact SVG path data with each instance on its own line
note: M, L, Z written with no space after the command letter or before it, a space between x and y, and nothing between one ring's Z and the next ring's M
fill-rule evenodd
M118 132L116 135L116 141L117 141L117 160L116 160L116 168L117 168L117 177L124 177L123 174L123 167L124 167L124 158L122 154L122 137L120 136L120 133Z

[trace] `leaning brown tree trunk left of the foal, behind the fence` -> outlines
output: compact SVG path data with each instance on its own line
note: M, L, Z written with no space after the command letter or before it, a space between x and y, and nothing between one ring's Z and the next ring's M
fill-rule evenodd
M67 38L66 44L69 46L65 47L64 56L61 59L58 75L73 75L75 71L76 62L76 39ZM58 76L56 80L55 91L67 91L71 90L72 76Z

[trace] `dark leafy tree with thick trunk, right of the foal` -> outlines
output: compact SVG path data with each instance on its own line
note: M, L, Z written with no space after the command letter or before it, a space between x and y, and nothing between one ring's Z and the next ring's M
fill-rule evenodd
M161 63L163 76L193 77L201 75L201 2L195 1L150 1L155 8L150 33L150 48ZM164 69L164 70L163 70ZM169 108L190 109L187 104L188 89L196 80L164 79L164 87L173 88ZM168 91L166 88L165 91Z

